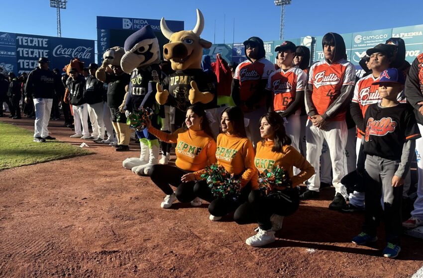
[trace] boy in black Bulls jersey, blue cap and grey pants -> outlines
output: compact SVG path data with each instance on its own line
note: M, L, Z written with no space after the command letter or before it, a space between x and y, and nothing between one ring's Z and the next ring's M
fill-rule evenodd
M404 177L410 169L415 139L421 135L411 106L397 101L404 88L402 73L387 69L373 83L376 84L382 101L370 105L364 117L365 219L363 231L352 242L363 245L377 241L377 226L383 218L387 245L382 253L384 257L395 258L401 251Z

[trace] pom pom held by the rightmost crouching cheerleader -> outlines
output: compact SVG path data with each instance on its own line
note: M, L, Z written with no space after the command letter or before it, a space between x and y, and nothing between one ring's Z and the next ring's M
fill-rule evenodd
M277 165L272 169L264 170L258 175L258 186L262 195L268 197L280 198L281 191L278 187L291 187L292 181L283 167Z

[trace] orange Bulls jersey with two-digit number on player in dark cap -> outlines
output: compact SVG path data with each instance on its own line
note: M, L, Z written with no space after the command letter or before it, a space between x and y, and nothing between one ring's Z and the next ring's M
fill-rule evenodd
M295 100L298 91L304 91L307 83L307 74L298 67L287 71L279 69L269 76L266 90L272 91L273 109L276 112L285 111ZM301 106L296 114L300 115Z

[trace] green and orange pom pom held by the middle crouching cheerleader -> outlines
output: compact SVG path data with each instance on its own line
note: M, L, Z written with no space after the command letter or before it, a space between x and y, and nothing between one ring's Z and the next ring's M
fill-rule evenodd
M236 200L241 193L238 179L229 174L225 168L217 163L207 166L206 173L201 175L207 181L213 196L224 199Z

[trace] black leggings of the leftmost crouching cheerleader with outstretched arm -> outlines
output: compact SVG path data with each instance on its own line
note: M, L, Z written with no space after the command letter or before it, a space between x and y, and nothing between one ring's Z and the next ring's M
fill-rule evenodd
M177 187L175 195L178 201L189 203L196 198L196 195L193 191L195 182L181 182L181 177L187 173L192 172L176 166L156 164L150 169L150 178L166 195L173 193L170 185Z

